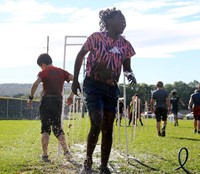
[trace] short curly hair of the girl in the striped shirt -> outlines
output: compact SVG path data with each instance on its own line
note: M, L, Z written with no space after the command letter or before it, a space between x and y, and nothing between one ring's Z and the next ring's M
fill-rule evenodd
M116 10L116 8L101 10L99 12L99 26L100 31L108 29L108 20L112 19L116 14L122 14L120 10Z

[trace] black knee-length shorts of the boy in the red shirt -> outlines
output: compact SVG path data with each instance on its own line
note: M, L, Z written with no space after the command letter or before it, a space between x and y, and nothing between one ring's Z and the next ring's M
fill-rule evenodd
M40 105L41 133L51 134L51 127L56 137L64 134L61 127L62 97L44 96Z

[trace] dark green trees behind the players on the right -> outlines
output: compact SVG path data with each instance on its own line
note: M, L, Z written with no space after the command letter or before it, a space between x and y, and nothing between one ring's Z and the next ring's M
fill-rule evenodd
M188 107L188 102L192 93L197 89L199 82L194 80L188 84L177 81L173 84L164 84L164 89L168 92L169 97L171 97L171 92L176 90L177 95L184 102L185 106L180 106L180 109L186 110ZM129 105L133 95L138 94L141 102L144 104L145 101L149 104L152 92L156 89L156 85L148 85L145 83L137 84L136 86L131 86L129 84L125 85L126 88L126 105ZM124 84L119 84L120 97L124 96Z

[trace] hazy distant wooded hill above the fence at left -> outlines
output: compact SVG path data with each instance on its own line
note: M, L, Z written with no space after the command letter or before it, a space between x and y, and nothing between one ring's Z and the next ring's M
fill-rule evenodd
M5 97L13 97L18 94L29 95L31 90L32 84L18 84L18 83L4 83L0 84L0 96ZM71 84L65 84L65 90L70 91ZM36 95L40 95L42 91L42 85L39 85Z

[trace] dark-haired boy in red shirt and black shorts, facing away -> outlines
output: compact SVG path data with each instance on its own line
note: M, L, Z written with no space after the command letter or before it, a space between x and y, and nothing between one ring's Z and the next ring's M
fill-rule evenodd
M73 75L67 71L57 68L52 65L52 59L48 54L41 54L37 59L37 64L42 69L38 74L37 80L33 83L31 94L27 102L31 107L35 91L38 85L43 83L43 96L40 104L40 119L41 119L41 134L42 134L42 160L50 162L48 159L48 144L51 130L60 142L64 155L70 158L70 152L65 141L64 131L61 126L62 113L62 91L64 82L73 80ZM73 93L67 99L67 104L70 105L73 101Z

